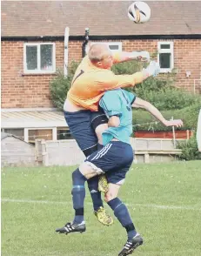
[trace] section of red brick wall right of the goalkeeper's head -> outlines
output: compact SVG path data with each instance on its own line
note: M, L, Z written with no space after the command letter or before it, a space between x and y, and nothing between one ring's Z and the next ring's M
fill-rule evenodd
M126 40L123 44L124 51L146 50L152 53L157 51L157 42L170 40ZM194 79L201 79L201 40L177 39L174 42L174 67L177 71L175 86L187 91L193 91ZM186 77L185 72L191 71L191 76ZM201 81L196 81L196 91L201 93Z

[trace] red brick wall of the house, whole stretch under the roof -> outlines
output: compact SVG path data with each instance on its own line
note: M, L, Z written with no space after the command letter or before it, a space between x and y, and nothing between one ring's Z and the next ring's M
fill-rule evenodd
M164 40L163 40L164 41ZM169 40L168 40L169 41ZM119 42L117 40L117 42ZM158 40L124 40L123 51L157 51ZM194 79L201 77L201 40L175 39L176 86L193 91ZM82 57L81 41L69 43L69 62ZM56 66L63 70L64 42L56 42ZM191 77L185 76L191 71ZM23 42L2 42L2 108L52 107L49 84L55 75L23 74ZM201 90L200 82L196 82Z

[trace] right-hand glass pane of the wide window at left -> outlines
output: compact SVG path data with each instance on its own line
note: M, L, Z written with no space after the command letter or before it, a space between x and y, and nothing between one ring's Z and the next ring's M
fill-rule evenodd
M41 44L41 70L52 71L52 44Z

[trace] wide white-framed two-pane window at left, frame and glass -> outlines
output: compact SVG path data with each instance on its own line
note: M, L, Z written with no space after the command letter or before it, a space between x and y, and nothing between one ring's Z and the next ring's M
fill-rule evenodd
M56 54L54 43L23 45L23 72L26 74L54 73Z

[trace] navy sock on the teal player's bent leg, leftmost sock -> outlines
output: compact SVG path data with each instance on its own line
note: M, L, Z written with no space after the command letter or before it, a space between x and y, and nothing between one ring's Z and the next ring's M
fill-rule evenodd
M84 183L87 179L79 172L79 169L72 172L72 201L75 209L75 219L73 223L81 223L84 221L84 198L85 188Z

